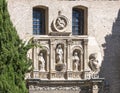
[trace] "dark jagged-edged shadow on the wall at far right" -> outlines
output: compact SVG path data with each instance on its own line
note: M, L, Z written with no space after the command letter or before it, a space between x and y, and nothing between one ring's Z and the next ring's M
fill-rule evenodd
M120 92L120 10L118 16L113 23L112 33L105 37L104 59L101 68L101 75L106 79L106 87L108 86L110 93ZM109 93L109 92L105 92Z

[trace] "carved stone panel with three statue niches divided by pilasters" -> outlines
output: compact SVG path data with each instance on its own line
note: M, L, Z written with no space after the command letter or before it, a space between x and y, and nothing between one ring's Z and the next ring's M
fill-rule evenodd
M42 48L34 49L34 77L40 79L77 79L83 73L83 43L78 39L38 39ZM69 73L70 71L70 73Z

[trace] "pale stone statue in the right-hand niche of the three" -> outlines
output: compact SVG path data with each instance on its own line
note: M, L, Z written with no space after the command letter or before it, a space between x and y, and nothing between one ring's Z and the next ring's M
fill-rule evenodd
M74 55L73 55L73 70L74 71L78 71L79 61L80 59L78 57L78 53L74 52Z

